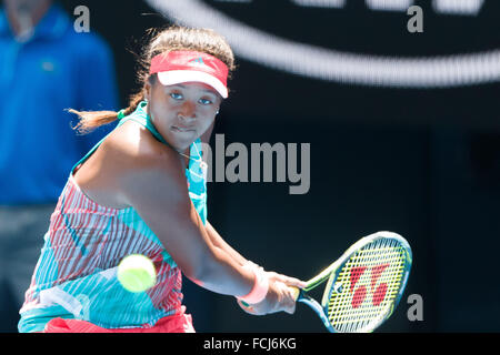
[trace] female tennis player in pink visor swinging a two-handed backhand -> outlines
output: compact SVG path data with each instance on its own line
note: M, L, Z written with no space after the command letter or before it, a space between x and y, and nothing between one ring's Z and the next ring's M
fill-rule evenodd
M194 332L181 272L248 313L294 312L304 283L247 261L207 221L208 142L233 54L211 30L171 27L147 45L141 90L119 112L79 112L82 132L119 120L71 170L20 310L20 332ZM126 291L117 266L152 260L157 283Z

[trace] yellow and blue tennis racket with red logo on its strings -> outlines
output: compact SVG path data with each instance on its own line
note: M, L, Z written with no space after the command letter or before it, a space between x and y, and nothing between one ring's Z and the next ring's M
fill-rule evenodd
M332 333L374 331L396 310L412 262L408 242L392 232L368 235L351 247L306 287L294 288ZM328 281L321 304L308 292Z

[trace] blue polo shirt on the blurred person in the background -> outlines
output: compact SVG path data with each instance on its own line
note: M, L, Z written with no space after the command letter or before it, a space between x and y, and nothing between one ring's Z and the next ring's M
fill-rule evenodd
M57 202L71 166L116 124L78 135L76 110L117 110L110 49L53 4L26 42L0 9L0 205Z

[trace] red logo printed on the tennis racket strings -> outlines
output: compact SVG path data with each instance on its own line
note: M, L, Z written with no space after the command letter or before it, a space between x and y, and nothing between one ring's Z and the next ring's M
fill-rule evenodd
M383 298L386 298L388 284L387 283L380 283L377 285L377 282L379 281L380 276L382 275L383 271L389 266L389 264L380 264L377 266L371 267L371 281L370 281L370 291L371 291L371 303L373 306L379 306ZM350 275L350 291L351 294L354 291L356 285L358 284L358 281L361 278L361 276L364 274L367 266L358 266L353 267L351 270ZM377 286L377 287L376 287ZM367 298L367 285L361 285L356 288L352 295L351 305L353 308L358 308Z

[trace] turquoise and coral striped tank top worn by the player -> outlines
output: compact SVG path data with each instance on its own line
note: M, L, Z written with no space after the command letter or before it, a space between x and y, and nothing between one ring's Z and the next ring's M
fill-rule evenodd
M117 128L133 120L167 144L146 113L146 105L141 102ZM71 169L59 196L19 312L21 333L41 332L54 317L83 320L106 328L152 327L160 318L183 312L181 271L137 211L97 204L73 179L73 170L107 136ZM206 224L207 171L200 165L201 152L198 139L190 146L186 178L189 196ZM121 286L117 267L129 254L143 254L152 260L157 270L153 287L130 293Z

